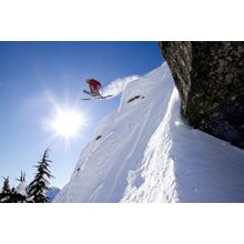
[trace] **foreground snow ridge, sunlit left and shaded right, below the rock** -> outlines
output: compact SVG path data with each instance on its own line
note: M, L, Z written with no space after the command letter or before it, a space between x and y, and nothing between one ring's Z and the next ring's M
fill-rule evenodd
M244 202L244 152L183 124L179 111L175 89L121 202Z

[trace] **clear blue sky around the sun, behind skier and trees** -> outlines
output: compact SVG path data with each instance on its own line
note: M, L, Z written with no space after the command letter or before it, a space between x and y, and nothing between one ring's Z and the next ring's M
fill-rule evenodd
M106 85L162 62L156 42L0 42L0 176L17 185L24 171L30 182L49 148L51 184L64 186L96 124L120 102L81 101L84 80ZM69 140L51 129L57 109L82 114L79 133Z

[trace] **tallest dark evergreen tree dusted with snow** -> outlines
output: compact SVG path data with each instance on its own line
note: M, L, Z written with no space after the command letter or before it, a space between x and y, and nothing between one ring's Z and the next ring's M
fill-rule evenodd
M38 172L34 176L34 180L30 183L28 187L28 202L30 203L47 203L48 196L45 195L45 192L49 190L49 179L52 177L49 164L51 161L49 160L49 150L47 149L44 151L44 154L42 156L42 160L38 162L38 165L35 166L38 169Z

